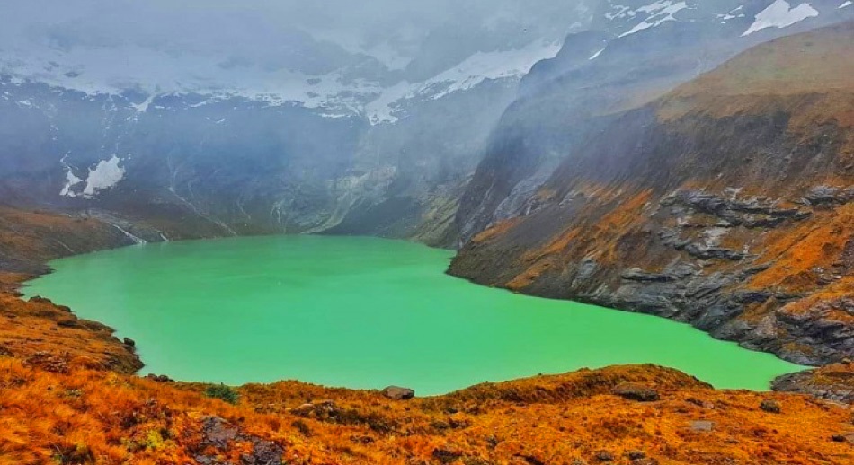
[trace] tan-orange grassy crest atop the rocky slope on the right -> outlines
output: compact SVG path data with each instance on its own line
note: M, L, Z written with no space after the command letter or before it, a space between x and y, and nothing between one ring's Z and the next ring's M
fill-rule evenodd
M681 85L661 102L666 120L702 111L725 118L744 111L768 113L779 101L800 99L795 127L832 118L854 126L854 22L771 40L750 48L715 70ZM823 119L825 118L825 119Z

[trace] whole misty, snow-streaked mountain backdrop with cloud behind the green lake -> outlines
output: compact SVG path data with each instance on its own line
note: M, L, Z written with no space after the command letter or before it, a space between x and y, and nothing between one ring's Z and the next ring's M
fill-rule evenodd
M7 202L83 210L146 241L328 232L447 246L529 211L611 116L854 12L836 0L0 9Z

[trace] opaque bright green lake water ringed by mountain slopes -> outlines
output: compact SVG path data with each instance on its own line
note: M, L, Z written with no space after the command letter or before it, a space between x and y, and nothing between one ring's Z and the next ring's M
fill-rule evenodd
M26 289L137 341L143 373L420 395L609 364L672 366L767 390L802 369L688 325L473 285L453 252L405 241L284 236L146 244L51 263Z

